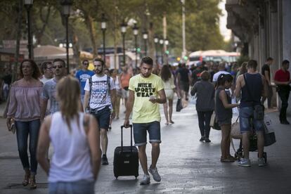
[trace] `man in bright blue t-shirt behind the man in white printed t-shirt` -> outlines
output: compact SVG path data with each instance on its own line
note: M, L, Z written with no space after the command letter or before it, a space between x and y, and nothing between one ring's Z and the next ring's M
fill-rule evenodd
M85 59L82 62L82 70L79 70L76 73L76 78L80 82L82 103L84 102L84 96L85 96L84 87L85 87L86 81L87 81L87 79L89 79L90 77L92 77L94 75L94 72L92 72L91 70L88 70L88 67L89 67L89 60Z

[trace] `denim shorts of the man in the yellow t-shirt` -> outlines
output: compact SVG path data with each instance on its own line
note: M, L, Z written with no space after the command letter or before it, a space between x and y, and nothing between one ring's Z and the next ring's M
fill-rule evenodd
M146 131L150 136L150 143L161 143L160 122L134 123L134 143L136 146L146 144Z

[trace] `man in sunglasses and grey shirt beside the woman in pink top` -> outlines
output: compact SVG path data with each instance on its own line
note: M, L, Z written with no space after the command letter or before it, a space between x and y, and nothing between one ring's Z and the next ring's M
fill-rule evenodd
M48 80L44 84L44 89L41 94L42 105L41 105L41 120L44 119L46 115L46 107L48 105L48 100L50 101L49 114L57 112L59 109L58 101L56 101L56 84L60 79L65 77L65 61L60 58L53 60L53 79Z

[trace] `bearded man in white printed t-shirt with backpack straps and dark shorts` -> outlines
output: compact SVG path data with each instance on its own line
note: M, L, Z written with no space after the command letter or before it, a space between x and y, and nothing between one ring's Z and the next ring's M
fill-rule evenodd
M104 74L105 63L101 58L93 60L94 72L91 78L87 79L84 90L84 111L89 105L89 112L97 119L99 130L101 130L101 164L108 164L106 156L108 147L107 132L110 125L110 116L115 118L115 96L116 89L112 77Z

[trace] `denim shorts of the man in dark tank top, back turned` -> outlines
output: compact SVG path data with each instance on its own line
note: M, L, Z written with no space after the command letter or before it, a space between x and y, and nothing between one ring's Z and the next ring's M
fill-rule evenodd
M254 128L254 131L264 131L264 119L255 120L254 108L252 107L240 108L240 132L252 131L251 127Z

